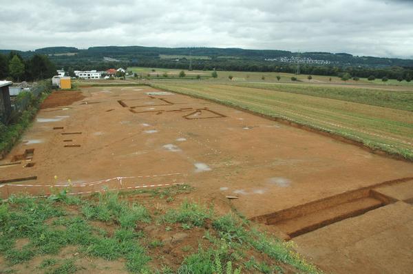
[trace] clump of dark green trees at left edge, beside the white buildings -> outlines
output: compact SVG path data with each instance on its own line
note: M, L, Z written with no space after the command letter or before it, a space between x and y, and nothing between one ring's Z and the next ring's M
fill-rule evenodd
M17 52L0 54L0 80L39 81L56 75L56 65L43 54L34 54L28 59Z

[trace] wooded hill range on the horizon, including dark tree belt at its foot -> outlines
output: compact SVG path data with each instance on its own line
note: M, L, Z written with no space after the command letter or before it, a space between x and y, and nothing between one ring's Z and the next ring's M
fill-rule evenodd
M0 50L9 54L10 50ZM290 72L303 74L412 79L412 59L353 56L347 53L288 52L284 50L243 50L240 48L155 48L155 47L72 47L41 48L16 52L23 59L45 54L65 70L107 70L111 67L164 67L193 70Z

